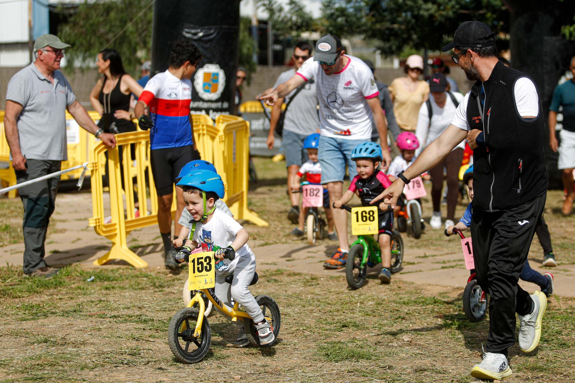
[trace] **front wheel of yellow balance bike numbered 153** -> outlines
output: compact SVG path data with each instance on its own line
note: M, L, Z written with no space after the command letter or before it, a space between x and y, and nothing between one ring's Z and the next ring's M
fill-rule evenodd
M174 357L182 363L197 363L204 359L212 341L208 319L202 321L201 334L194 336L198 323L198 309L186 307L172 317L168 326L168 344Z

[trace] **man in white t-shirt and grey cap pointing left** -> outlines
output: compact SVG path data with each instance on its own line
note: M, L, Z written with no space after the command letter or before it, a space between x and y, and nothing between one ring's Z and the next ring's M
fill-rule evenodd
M327 184L329 199L342 197L346 164L350 178L357 174L351 151L359 143L371 140L371 124L377 127L383 150L382 168L391 163L387 145L387 124L379 104L379 91L367 65L354 56L345 54L338 36L325 35L317 40L316 53L302 64L286 82L278 85L260 99L274 105L306 81L316 83L320 104L321 183ZM345 210L334 209L333 218L338 232L339 248L326 265L333 269L345 266L349 243ZM325 266L327 267L327 266Z

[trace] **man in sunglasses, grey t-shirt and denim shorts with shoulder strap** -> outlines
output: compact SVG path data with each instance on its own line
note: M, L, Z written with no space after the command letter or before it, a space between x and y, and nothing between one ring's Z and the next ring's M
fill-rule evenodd
M297 43L292 56L294 68L279 75L271 89L275 89L279 84L292 78L301 67L301 64L312 56L312 52L312 46L306 41ZM269 150L272 150L275 141L275 127L282 111L282 104L284 101L287 104L287 102L290 102L290 98L294 97L285 112L285 118L283 120L282 145L285 149L287 190L292 190L292 187L299 187L299 185L292 185L292 180L298 170L300 170L301 164L308 160L308 151L304 150L305 137L315 132L319 133L320 128L320 118L317 114L318 101L316 85L315 83L306 82L302 87L296 97L294 97L294 94L296 94L297 89L288 94L285 100L283 98L278 99L274 108L271 110L270 133L267 136L267 147ZM292 208L289 210L289 213L287 213L287 218L292 221L293 224L297 224L300 215L300 196L297 193L290 193L289 197L292 202ZM299 229L294 229L292 233L296 235L304 234L303 232L299 233L299 231Z

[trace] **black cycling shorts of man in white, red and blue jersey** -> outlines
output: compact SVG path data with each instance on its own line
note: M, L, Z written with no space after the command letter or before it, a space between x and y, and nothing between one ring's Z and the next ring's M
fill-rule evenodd
M174 182L182 167L197 155L192 145L178 148L154 149L150 151L152 175L158 196L167 196L174 191Z

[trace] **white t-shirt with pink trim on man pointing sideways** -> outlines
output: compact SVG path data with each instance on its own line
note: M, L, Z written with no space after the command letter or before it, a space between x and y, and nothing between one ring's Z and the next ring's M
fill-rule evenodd
M361 59L345 56L347 65L332 75L326 75L313 57L296 74L305 81L315 79L322 136L370 140L373 114L366 99L379 95L377 84Z

